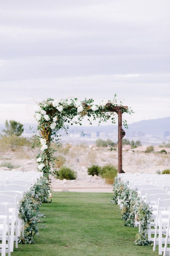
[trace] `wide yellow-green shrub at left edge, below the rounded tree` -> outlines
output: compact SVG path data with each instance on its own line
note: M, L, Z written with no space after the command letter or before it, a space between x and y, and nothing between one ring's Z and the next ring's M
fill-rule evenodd
M13 134L10 136L1 135L0 137L0 148L2 150L17 150L21 146L31 146L32 142L23 137L18 137L17 135Z

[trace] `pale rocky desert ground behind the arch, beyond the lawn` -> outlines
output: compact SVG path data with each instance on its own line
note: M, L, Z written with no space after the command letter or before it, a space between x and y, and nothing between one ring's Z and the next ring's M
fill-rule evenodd
M0 165L10 162L15 166L15 170L30 171L36 170L37 149L22 148L16 151L1 152ZM59 180L52 178L52 187L57 188L82 188L96 187L107 188L111 185L105 183L101 177L87 174L87 168L93 164L104 166L106 164L118 164L117 151L110 151L106 148L96 148L86 145L65 145L59 148L57 155L62 155L69 166L77 172L76 180ZM3 170L4 167L0 167ZM8 170L8 168L5 168ZM130 173L157 173L164 169L170 169L169 154L137 153L131 151L123 152L123 170Z

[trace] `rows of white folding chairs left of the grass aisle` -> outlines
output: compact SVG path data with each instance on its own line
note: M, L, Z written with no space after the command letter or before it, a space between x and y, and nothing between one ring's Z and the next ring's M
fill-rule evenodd
M40 172L0 172L0 244L1 255L10 255L18 247L18 236L24 236L24 223L18 218L19 201L42 176ZM3 182L2 182L3 179ZM7 243L6 243L7 242Z

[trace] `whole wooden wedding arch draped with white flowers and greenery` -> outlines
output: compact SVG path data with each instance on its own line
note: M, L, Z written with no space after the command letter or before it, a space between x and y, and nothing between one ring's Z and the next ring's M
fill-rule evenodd
M39 146L39 153L36 156L38 163L37 169L43 171L44 176L48 178L53 172L57 173L54 169L53 156L54 148L51 147L51 142L59 143L60 129L64 129L67 133L70 125L79 124L83 117L87 116L88 121L92 124L90 118L101 122L111 120L115 124L115 113L118 114L118 171L123 173L122 170L122 138L125 136L125 131L122 129L122 114L133 113L131 108L123 106L122 102L117 102L116 94L113 100L106 102L101 101L100 105L94 104L93 99L86 99L83 101L77 98L54 100L47 98L40 102L39 110L35 112L35 118L38 122L39 135L36 136L36 142ZM77 117L76 120L74 118ZM127 128L127 121L123 119L123 125ZM59 145L59 144L58 144ZM52 167L52 170L51 170ZM53 171L54 170L54 171Z

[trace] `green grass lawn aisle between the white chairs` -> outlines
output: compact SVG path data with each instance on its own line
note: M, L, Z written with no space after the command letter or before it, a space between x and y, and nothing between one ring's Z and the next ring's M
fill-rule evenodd
M36 244L19 245L11 256L150 256L152 246L134 244L137 228L123 226L119 206L109 193L55 192L51 204L40 207ZM46 227L42 227L42 224Z

